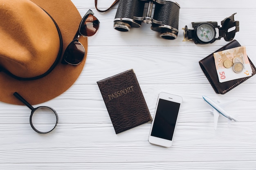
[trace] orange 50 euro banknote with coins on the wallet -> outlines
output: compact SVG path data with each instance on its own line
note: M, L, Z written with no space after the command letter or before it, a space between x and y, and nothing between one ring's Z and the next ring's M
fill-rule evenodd
M213 53L219 82L227 82L252 75L245 46Z

